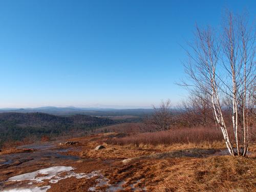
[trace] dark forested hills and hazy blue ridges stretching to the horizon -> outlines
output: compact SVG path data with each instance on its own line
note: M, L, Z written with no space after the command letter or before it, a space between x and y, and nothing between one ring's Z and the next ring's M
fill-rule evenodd
M153 109L41 108L0 109L0 146L8 140L86 133L98 127L142 122ZM175 112L175 110L173 110Z

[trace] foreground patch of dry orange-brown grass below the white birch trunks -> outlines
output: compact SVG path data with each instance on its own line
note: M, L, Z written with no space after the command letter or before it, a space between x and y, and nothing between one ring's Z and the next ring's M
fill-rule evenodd
M139 161L109 169L105 175L123 187L140 180L147 191L255 191L255 159L215 156Z

